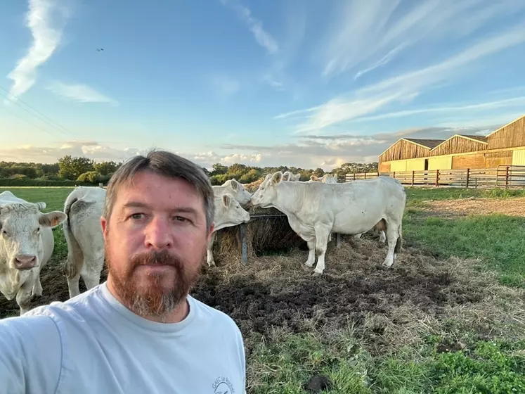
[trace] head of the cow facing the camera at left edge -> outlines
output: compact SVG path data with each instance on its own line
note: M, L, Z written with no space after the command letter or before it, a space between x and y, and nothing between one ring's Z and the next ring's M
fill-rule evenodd
M0 207L0 253L11 269L32 269L40 265L44 250L42 229L58 226L64 212L40 212L46 203L10 203Z

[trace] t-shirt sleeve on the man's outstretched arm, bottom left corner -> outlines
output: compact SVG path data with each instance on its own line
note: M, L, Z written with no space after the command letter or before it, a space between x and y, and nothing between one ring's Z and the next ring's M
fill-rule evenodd
M48 316L0 320L2 393L55 393L62 362L60 333Z

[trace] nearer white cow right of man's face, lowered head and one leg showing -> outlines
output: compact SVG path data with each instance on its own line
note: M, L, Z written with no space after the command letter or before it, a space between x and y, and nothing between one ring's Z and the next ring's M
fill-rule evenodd
M231 194L225 193L222 196L215 198L215 212L213 220L215 224L215 235L215 231L219 231L225 227L233 227L241 223L249 222L249 213L240 206L238 201L235 200ZM207 262L209 266L215 265L212 248L213 243L209 242L207 250Z

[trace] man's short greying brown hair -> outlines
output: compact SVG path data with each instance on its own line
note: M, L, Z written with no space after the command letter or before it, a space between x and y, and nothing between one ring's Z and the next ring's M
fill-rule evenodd
M215 212L214 192L209 178L202 168L190 160L168 151L155 149L147 155L136 155L121 165L108 182L103 217L110 219L117 193L121 186L133 182L139 172L150 171L169 178L182 178L195 186L204 200L207 229L212 224Z

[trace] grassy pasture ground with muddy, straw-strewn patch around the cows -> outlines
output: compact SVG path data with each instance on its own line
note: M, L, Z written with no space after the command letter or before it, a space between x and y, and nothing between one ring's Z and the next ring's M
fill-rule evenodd
M72 188L10 190L49 211L63 210ZM203 261L192 294L240 326L247 393L525 393L525 191L407 196L390 269L373 233L330 243L322 277L304 269L299 248L246 267ZM67 248L62 228L54 234L34 305L67 299ZM0 317L16 314L2 296Z

